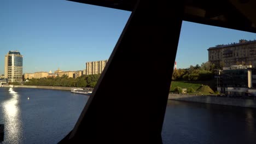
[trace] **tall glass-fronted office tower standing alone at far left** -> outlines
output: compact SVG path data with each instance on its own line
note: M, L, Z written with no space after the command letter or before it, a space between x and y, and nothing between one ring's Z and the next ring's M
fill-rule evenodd
M22 81L23 56L19 51L9 51L4 59L4 77L8 82Z

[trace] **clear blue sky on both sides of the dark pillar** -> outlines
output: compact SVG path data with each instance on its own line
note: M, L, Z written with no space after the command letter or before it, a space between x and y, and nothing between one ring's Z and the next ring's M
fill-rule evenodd
M24 56L24 73L83 70L86 62L108 59L130 14L63 0L1 0L0 74L9 50ZM201 65L209 47L240 39L256 34L183 21L177 68Z

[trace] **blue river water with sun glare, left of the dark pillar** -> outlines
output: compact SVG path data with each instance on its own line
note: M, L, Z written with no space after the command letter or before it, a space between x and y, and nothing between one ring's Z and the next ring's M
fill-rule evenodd
M73 129L87 100L68 91L1 87L2 143L59 142Z

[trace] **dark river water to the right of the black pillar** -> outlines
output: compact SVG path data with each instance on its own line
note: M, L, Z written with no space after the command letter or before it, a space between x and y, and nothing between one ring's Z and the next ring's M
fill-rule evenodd
M163 143L256 143L256 109L169 100Z

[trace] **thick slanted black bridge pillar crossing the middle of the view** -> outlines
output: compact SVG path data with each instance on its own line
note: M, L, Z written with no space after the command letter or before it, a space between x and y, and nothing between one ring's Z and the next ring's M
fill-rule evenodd
M59 143L162 143L182 14L181 1L137 1L78 122Z

